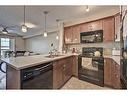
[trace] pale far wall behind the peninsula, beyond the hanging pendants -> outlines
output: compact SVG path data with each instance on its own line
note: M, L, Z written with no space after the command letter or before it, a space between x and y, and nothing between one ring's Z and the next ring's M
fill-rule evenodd
M54 44L54 48L58 49L59 40L56 40L56 35L56 32L53 32L49 33L46 38L40 35L25 39L26 50L47 54L51 49L51 43Z

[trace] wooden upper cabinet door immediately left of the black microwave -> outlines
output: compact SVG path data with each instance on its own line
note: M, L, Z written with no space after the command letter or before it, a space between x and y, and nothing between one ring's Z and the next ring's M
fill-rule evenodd
M73 26L73 43L80 43L80 25Z

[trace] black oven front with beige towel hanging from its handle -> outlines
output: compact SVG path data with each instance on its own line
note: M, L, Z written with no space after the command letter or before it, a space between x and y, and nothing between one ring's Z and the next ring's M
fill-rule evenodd
M104 86L104 60L79 56L78 78L90 83Z

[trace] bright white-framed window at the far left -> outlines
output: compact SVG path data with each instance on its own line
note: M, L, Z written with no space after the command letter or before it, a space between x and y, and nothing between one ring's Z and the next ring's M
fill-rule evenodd
M1 38L1 49L3 50L10 49L10 39L9 38Z

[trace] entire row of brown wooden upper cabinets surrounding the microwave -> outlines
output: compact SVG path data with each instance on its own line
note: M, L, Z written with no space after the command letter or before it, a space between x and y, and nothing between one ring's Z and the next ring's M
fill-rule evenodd
M66 44L80 43L80 33L103 30L103 42L120 40L120 18L112 16L96 21L82 23L64 28L64 41ZM116 37L116 38L115 38Z

